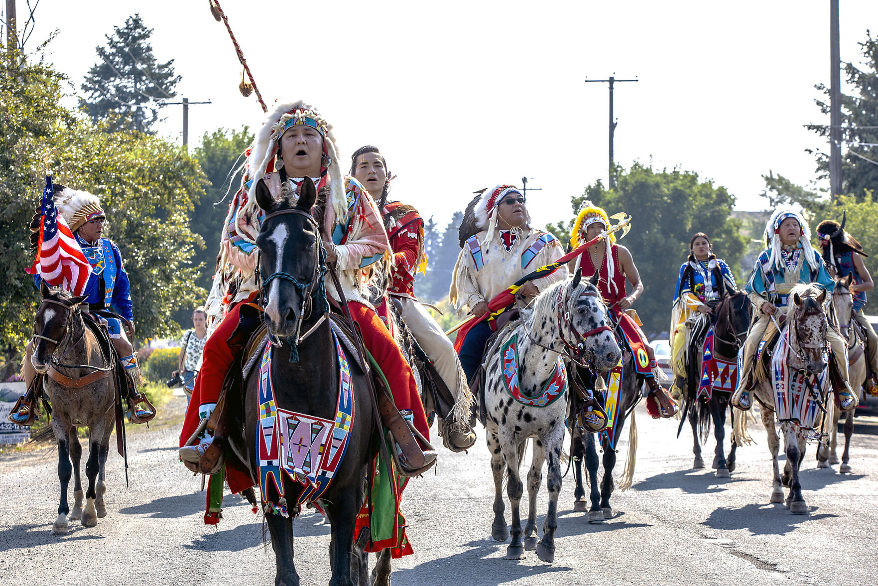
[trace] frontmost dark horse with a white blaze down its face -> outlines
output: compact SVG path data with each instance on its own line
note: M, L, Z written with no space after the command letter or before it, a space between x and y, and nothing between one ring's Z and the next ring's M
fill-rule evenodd
M259 247L263 282L269 283L266 295L266 314L270 335L280 342L274 348L271 377L278 409L288 409L310 416L335 420L339 392L339 369L332 331L327 320L327 307L322 297L323 262L320 228L311 215L316 199L313 183L302 182L299 201L275 201L268 190L256 191L256 201L268 214L263 221L256 243ZM275 277L275 275L280 275ZM276 319L277 318L277 319ZM310 332L303 340L306 333ZM291 355L298 352L298 358ZM291 358L293 360L291 361ZM356 515L363 503L363 479L367 465L378 452L378 426L372 416L371 386L358 370L356 361L348 357L353 378L351 393L354 398L354 419L350 426L347 452L327 492L319 503L326 510L332 524L329 546L329 564L332 568L331 586L350 586L352 548ZM259 459L255 452L259 427L259 369L245 382L246 391L238 416L243 420L232 422L234 430L229 445L249 467L253 478L259 478ZM241 431L237 431L241 430ZM281 474L289 517L266 514L271 534L271 546L277 561L275 584L298 585L299 575L293 563L293 519L299 510L296 503L304 489ZM277 503L279 495L269 488L269 500ZM356 558L354 559L356 562ZM356 563L354 565L356 568ZM365 568L356 577L367 583ZM307 583L313 582L311 578Z

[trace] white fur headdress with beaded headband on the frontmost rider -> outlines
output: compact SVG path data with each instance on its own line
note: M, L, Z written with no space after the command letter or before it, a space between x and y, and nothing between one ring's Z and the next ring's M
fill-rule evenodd
M247 202L244 204L243 213L235 218L235 228L239 234L249 240L237 226L241 216L253 216L259 213L259 205L256 204L256 184L266 173L275 170L277 163L277 148L281 137L288 128L295 126L312 127L323 137L323 160L320 163L320 183L317 191L325 185L329 185L327 204L333 207L336 221L344 221L348 217L347 199L344 195L344 177L339 167L338 148L335 146L335 134L332 125L324 119L320 112L302 100L292 104L279 105L270 112L263 123L263 127L256 134L253 145L248 149L249 155L246 163L245 182L248 183ZM234 213L234 210L230 210ZM255 243L255 242L251 242Z

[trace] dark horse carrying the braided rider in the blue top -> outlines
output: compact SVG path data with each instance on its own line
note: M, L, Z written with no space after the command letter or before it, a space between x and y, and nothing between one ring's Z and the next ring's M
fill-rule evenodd
M736 361L738 349L744 344L750 325L750 307L750 300L747 299L747 295L743 291L724 295L723 299L716 305L713 346L715 356L726 358L732 362ZM713 423L714 438L716 438L713 467L716 469L717 478L728 478L735 470L735 451L738 448L738 445L732 440L729 457L725 457L723 448L725 416L727 409L730 409L731 394L714 388L710 399L706 396L697 396L702 378L702 356L699 353L699 355L690 356L689 360L691 364L688 369L689 376L687 376L686 381L683 409L681 409L683 415L680 417L680 428L677 430L677 436L680 437L680 430L688 414L689 423L692 425L692 452L695 456L692 467L696 470L702 469L704 460L702 459L702 446L699 444L699 438L701 438L702 443L707 443L710 424ZM713 380L710 383L713 384ZM734 412L732 412L731 424L732 426L735 424Z

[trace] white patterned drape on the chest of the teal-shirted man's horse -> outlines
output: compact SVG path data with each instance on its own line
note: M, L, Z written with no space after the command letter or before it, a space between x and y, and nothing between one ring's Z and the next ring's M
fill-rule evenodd
M818 416L828 394L829 368L820 374L802 374L789 367L789 329L784 328L771 359L774 412L781 423L793 423L800 436L817 439Z

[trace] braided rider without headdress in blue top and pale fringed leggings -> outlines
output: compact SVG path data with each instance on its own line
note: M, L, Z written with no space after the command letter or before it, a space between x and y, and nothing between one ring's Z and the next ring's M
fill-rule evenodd
M686 384L686 349L692 325L701 315L713 315L723 294L737 288L729 265L713 253L708 235L699 232L692 236L689 257L680 266L671 311L672 395L680 397Z

